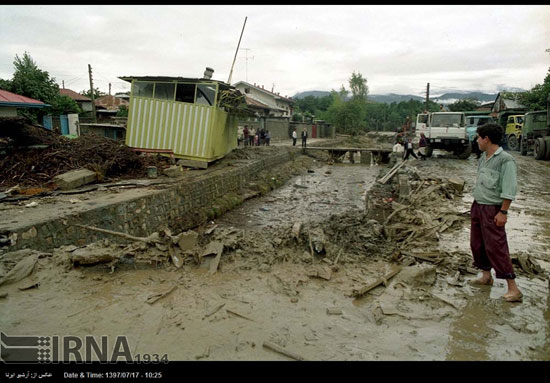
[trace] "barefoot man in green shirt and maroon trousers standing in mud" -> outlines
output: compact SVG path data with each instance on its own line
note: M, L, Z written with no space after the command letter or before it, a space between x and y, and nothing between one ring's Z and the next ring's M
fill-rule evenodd
M503 299L521 302L523 295L516 285L504 230L508 209L517 191L516 162L499 146L503 134L499 125L483 125L477 133L477 143L483 154L472 193L470 248L474 265L482 270L482 276L471 283L492 285L491 268L494 268L496 277L506 279L508 284Z

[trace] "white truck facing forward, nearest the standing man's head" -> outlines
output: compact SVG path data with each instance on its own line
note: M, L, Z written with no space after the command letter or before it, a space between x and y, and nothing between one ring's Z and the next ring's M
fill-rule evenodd
M426 156L434 149L453 152L458 158L467 159L472 145L466 133L466 116L462 112L422 113L416 117L416 136L424 133L428 141Z

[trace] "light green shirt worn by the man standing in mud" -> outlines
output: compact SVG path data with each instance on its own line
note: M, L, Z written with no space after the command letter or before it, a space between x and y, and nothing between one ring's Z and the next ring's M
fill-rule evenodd
M474 199L481 205L501 205L503 199L514 200L517 192L516 161L501 147L486 160L483 152L477 166Z

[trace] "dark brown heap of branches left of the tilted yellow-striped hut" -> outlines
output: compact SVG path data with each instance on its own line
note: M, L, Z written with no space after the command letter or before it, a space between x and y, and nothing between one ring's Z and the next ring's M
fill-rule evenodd
M0 131L11 140L0 158L0 187L45 185L59 174L80 168L95 171L100 181L145 177L147 166L163 168L169 162L163 157L140 156L106 137L69 139L18 119L3 120Z

